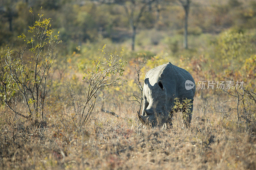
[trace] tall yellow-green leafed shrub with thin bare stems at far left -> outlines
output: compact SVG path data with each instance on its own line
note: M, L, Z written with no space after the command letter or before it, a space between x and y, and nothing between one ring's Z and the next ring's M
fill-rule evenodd
M39 19L34 19L33 11L29 12L32 16L33 25L29 26L28 33L18 36L25 43L19 51L8 48L6 53L1 56L1 62L5 62L4 71L0 72L0 81L4 87L4 103L16 115L27 119L44 118L44 100L50 91L49 77L52 71L52 64L56 58L53 54L54 48L61 41L59 32L54 35L51 28L51 18L43 18L43 11L38 14ZM27 115L19 113L13 109L8 102L7 89L12 86L12 94L20 95L25 103ZM19 92L19 93L18 93ZM41 112L41 115L40 115Z

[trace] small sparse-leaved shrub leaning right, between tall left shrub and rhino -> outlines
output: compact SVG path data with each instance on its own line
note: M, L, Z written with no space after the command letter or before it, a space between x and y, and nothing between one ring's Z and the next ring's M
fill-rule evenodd
M88 89L85 96L85 103L83 111L80 117L79 124L83 125L86 123L92 114L92 110L96 102L96 92L103 87L108 88L109 86L120 86L124 84L123 76L124 66L127 61L123 61L117 52L114 54L107 53L106 59L104 59L106 44L101 49L102 57L97 60L92 60L93 70L88 71L84 74L83 80L88 83ZM121 54L124 53L122 48ZM93 101L92 101L93 100ZM84 114L86 115L84 116Z

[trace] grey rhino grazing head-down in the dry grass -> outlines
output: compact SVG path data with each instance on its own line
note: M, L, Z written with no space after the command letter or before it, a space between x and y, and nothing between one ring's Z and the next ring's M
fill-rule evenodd
M186 89L186 81L194 83L190 89ZM190 111L184 116L186 126L190 125L193 111L193 98L196 92L195 81L187 70L167 63L160 65L147 72L143 87L143 110L142 115L138 113L139 120L144 125L162 126L168 123L172 125L172 113L174 99L180 102L184 99L191 99ZM182 109L181 109L182 111ZM186 118L186 119L185 119Z

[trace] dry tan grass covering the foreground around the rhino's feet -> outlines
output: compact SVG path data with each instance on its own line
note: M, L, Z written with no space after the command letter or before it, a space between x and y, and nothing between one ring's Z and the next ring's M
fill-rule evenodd
M135 110L133 106L119 108L121 118L96 110L83 127L76 127L69 113L50 115L46 124L24 122L3 110L0 167L255 169L256 137L237 132L232 115L222 120L202 102L196 98L190 129L184 127L178 113L173 116L173 128L166 130L140 127L135 114L125 114Z

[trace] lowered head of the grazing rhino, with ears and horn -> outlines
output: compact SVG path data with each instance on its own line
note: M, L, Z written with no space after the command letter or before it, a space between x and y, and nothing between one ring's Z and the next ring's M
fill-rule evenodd
M143 93L147 93L144 98L142 115L138 112L138 117L143 125L160 127L172 120L170 115L170 99L163 81L159 80L154 85L150 85L148 78L145 79Z

